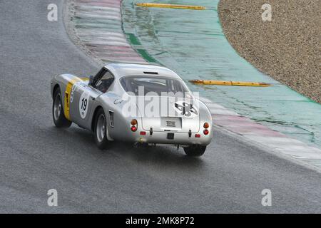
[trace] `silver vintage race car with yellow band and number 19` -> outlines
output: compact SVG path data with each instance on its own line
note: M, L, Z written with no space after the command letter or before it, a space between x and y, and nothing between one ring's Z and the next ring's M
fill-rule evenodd
M200 156L213 136L208 108L161 66L110 63L89 78L61 74L51 81L51 95L54 124L92 130L101 149L123 140L176 145Z

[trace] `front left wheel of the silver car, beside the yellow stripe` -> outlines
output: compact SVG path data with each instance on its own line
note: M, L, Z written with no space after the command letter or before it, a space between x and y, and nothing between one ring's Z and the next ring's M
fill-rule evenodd
M60 103L60 105L59 105ZM54 100L52 103L52 118L57 128L69 128L71 121L67 120L63 112L63 102L61 99L60 88L54 91Z

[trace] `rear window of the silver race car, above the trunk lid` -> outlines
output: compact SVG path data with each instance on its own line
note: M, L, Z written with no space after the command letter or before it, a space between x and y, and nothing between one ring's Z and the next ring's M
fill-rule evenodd
M188 89L180 80L164 77L126 76L121 78L121 86L127 93L135 95L187 95Z

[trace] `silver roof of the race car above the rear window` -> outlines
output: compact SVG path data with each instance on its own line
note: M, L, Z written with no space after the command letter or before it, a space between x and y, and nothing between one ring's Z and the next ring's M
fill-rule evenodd
M133 63L109 63L105 66L110 70L115 77L123 76L164 76L170 78L178 78L180 76L175 72L163 66L154 66L148 64L133 64Z

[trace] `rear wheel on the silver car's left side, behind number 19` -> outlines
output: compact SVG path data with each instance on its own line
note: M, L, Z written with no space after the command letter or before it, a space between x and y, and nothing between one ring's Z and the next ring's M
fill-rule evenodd
M95 138L96 145L99 149L104 150L108 147L108 139L106 135L107 121L106 115L103 108L100 108L95 116L95 125L93 128L93 135ZM104 130L102 129L102 124L104 125Z

